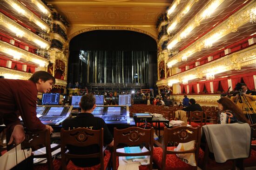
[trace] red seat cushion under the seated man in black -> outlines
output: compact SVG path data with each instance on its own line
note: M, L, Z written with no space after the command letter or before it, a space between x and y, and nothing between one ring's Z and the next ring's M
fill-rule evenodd
M104 170L106 170L108 167L108 162L111 157L111 153L109 150L105 150L104 152L105 152ZM69 163L67 164L67 170L100 170L100 168L101 168L101 163L91 167L79 167L79 166L76 166L72 161L69 161Z

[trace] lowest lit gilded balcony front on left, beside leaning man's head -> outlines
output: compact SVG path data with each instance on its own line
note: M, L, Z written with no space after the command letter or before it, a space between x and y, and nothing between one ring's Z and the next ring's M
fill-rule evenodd
M0 76L4 76L5 78L27 80L31 75L32 73L0 67Z

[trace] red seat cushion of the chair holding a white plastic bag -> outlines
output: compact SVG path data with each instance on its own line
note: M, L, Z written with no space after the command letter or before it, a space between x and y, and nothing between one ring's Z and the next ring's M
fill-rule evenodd
M176 147L167 147L167 150L174 150ZM162 148L155 147L153 154L154 163L162 168ZM165 161L166 170L194 170L195 167L184 163L175 154L168 154Z

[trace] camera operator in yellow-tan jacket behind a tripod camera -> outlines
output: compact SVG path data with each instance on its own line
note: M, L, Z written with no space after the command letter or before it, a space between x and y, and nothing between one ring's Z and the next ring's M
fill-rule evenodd
M236 105L243 110L246 117L252 121L252 124L256 123L256 92L250 91L247 85L244 83L238 83L236 85L236 90L238 93L236 96L231 97L231 100L236 102Z

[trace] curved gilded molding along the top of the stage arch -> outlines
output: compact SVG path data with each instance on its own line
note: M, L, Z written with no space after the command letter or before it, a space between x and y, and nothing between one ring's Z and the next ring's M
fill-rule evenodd
M89 31L95 31L95 30L127 30L127 31L135 31L138 33L144 33L149 35L150 37L152 37L153 39L157 39L153 34L148 33L147 31L141 30L141 29L137 29L137 28L133 28L133 27L128 27L128 26L94 26L94 27L89 27L89 28L85 28L85 29L81 29L79 31L76 31L75 33L72 33L71 35L69 35L69 37L67 38L67 44L69 44L70 40L73 39L75 36L81 34L81 33L85 33L85 32L89 32Z

